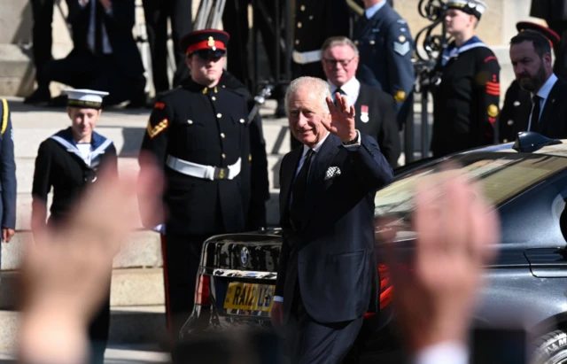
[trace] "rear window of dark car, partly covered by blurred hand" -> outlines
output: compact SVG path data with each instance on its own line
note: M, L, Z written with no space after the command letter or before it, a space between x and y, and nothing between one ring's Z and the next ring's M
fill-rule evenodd
M455 155L444 161L452 162L472 181L480 183L480 190L493 205L499 206L548 176L567 167L567 158L509 152L472 152ZM414 209L416 181L423 176L447 172L442 161L428 165L396 179L375 197L375 217L398 215L404 220Z

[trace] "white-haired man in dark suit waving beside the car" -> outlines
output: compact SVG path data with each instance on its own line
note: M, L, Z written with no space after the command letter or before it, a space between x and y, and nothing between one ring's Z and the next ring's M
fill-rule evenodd
M289 331L294 363L340 363L376 312L374 197L392 180L377 142L356 129L346 97L335 106L327 82L291 81L290 129L301 143L280 170L278 262L271 318Z

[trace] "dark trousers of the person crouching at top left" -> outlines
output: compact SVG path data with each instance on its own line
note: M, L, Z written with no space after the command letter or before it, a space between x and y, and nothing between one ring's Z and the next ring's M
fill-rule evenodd
M136 88L136 79L125 76L113 55L96 57L88 50L71 52L66 58L49 62L44 67L49 81L58 81L74 89L97 89L109 92L105 105L128 101Z

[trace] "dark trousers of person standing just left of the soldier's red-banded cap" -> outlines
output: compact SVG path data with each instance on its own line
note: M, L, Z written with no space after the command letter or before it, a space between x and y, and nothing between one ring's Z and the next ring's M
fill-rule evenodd
M185 52L179 49L183 35L191 31L191 0L143 0L145 26L151 52L151 72L156 93L169 89L167 77L167 18L171 19L172 40L175 55L174 85L182 77Z

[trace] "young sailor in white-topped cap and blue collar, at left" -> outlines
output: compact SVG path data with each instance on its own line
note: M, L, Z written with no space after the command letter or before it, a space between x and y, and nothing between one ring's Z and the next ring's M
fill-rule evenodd
M103 97L107 92L90 89L66 89L67 114L71 127L50 136L39 146L35 158L32 188L32 231L40 233L46 228L47 195L53 188L50 206L49 228L58 228L66 220L70 208L97 182L97 171L104 167L111 174L118 174L116 148L110 139L94 131L102 112ZM61 264L65 264L64 261ZM105 288L108 298L89 326L92 363L103 363L108 328L110 326L110 284L112 267L108 267Z

